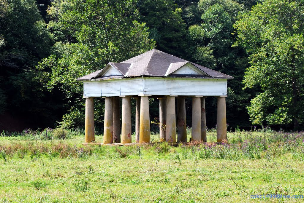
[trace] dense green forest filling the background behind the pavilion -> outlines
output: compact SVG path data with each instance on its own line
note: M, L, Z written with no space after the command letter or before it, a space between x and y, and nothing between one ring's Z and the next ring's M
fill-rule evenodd
M76 79L153 48L235 78L228 130L303 130L303 32L304 0L0 0L0 130L83 128ZM215 127L215 98L206 117Z

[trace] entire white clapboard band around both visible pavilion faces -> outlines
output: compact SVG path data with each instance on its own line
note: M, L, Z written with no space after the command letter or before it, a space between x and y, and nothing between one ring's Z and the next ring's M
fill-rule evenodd
M139 94L221 96L227 95L227 80L140 77L84 81L84 96L128 96Z

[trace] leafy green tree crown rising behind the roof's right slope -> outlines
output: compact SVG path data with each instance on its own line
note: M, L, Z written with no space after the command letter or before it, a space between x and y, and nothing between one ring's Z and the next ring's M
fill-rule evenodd
M230 69L235 61L237 49L231 48L235 40L231 33L241 6L230 0L201 0L199 9L202 12L201 24L189 27L196 47L194 60L205 62L209 59L206 62L209 67L227 73L225 68Z

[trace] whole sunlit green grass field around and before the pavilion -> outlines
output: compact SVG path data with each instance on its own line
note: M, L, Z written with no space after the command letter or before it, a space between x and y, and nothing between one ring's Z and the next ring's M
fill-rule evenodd
M304 195L304 133L228 133L220 145L178 147L84 146L80 133L66 140L41 134L0 137L1 202L304 201L250 198ZM215 141L215 132L207 138Z

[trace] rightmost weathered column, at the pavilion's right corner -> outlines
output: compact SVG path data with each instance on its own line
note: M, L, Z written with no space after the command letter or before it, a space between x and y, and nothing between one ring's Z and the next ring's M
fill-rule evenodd
M227 139L226 98L217 97L217 142Z

